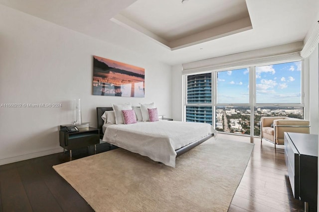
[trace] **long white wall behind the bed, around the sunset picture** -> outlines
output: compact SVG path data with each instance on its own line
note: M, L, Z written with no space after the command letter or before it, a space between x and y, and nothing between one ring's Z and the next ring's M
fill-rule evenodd
M0 20L0 104L62 104L0 107L0 165L62 151L58 126L71 124L75 98L93 127L96 107L111 103L155 102L171 116L169 66L2 5ZM92 95L93 55L145 68L145 98Z

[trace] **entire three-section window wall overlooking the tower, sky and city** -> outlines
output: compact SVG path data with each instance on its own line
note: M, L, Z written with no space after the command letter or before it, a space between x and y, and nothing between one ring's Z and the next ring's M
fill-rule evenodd
M185 120L217 131L260 135L263 116L304 118L303 62L249 66L185 76Z

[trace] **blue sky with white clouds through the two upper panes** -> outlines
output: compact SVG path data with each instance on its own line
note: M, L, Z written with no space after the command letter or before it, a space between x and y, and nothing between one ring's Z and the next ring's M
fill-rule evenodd
M249 71L217 73L218 103L249 103ZM257 103L301 103L301 62L256 67Z

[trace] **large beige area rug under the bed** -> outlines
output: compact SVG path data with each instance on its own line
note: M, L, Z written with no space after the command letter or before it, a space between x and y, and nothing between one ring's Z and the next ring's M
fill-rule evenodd
M53 168L96 212L227 212L253 146L210 139L176 168L120 148Z

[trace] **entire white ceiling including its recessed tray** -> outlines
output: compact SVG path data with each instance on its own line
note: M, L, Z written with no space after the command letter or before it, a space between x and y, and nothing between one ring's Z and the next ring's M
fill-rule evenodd
M304 41L319 19L319 0L0 0L0 6L167 65ZM133 12L131 17L131 6L151 14L138 18ZM159 17L152 20L153 14ZM126 22L117 20L119 16Z

